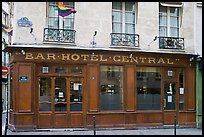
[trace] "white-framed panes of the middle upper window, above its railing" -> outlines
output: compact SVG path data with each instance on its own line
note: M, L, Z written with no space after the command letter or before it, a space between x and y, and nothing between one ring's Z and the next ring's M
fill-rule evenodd
M112 32L135 34L134 2L113 2Z

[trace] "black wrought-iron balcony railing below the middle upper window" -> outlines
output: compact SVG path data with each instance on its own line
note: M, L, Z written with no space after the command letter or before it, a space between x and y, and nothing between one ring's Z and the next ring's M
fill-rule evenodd
M138 34L111 33L112 46L139 47Z

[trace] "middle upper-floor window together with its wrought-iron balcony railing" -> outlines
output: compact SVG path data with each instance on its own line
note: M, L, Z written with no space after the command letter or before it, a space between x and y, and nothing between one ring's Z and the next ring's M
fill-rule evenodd
M139 35L135 34L135 2L112 3L112 46L139 46Z

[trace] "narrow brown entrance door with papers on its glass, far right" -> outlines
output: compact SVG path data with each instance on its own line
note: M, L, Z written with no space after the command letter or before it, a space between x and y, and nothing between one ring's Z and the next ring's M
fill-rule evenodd
M174 124L174 115L176 114L176 82L164 81L164 100L163 100L163 114L164 125Z

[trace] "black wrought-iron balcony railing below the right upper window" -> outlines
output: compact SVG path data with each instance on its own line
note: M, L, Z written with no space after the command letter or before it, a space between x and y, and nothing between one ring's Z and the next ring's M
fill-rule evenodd
M177 37L158 37L160 49L184 50L184 38Z

